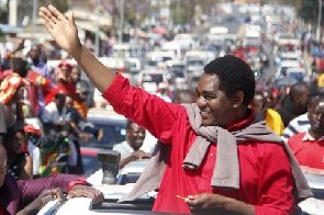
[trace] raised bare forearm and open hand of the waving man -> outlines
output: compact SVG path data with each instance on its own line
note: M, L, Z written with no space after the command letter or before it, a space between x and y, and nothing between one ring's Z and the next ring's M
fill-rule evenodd
M91 82L103 92L114 80L115 73L81 45L74 16L65 16L53 5L42 7L38 14L57 45L77 60Z

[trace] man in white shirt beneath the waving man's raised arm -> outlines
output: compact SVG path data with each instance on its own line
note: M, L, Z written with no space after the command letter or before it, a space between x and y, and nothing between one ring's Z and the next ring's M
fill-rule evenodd
M145 129L136 123L127 121L126 140L113 147L113 150L121 154L120 169L134 160L150 157L149 154L141 150L144 139Z

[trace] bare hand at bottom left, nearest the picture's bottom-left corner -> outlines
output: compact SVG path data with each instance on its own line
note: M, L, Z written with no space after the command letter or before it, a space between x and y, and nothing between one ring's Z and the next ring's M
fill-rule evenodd
M38 212L43 206L45 206L52 200L62 200L63 193L58 188L44 190L31 204L29 204L25 208L20 211L18 214L34 214Z

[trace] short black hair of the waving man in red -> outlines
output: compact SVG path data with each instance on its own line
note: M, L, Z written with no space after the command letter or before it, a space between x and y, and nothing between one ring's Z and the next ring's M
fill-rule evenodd
M204 73L216 75L220 80L220 89L226 97L242 91L244 93L243 104L248 105L255 94L255 77L249 66L234 55L225 55L209 63Z

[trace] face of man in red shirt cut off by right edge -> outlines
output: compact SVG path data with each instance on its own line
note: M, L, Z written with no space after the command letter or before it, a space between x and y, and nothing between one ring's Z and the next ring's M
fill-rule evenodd
M309 112L310 122L314 132L324 133L324 101L315 103Z

